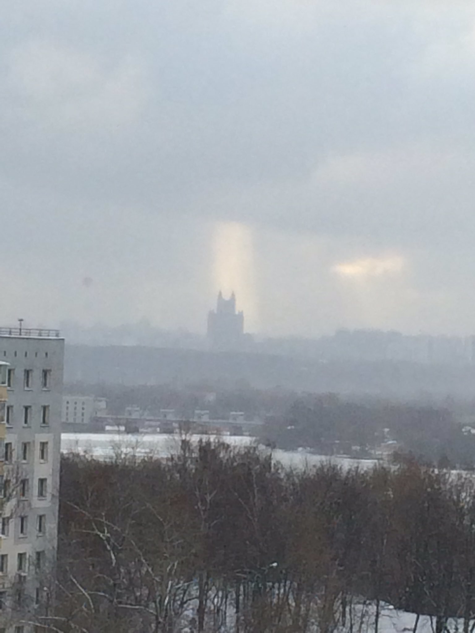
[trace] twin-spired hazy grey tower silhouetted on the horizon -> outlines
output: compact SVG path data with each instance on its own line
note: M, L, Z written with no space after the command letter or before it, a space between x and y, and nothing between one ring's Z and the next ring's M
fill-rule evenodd
M244 342L244 313L236 311L236 295L225 299L219 291L216 310L208 313L208 341L212 349L239 349Z

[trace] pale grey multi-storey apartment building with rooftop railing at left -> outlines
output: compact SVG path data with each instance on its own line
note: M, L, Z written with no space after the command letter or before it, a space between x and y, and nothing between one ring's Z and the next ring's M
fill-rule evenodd
M58 537L64 340L0 328L8 363L0 479L0 633L30 633L52 598ZM1 446L1 444L0 444Z

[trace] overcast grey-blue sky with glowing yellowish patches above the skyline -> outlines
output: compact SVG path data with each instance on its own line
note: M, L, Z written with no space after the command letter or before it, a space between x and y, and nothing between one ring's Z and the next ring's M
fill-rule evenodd
M3 3L2 322L473 334L474 97L464 0Z

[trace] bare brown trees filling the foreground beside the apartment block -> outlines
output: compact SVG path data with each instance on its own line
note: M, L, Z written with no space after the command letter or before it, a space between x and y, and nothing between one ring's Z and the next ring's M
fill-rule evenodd
M286 470L258 448L187 439L167 461L65 457L56 608L41 622L356 633L369 612L381 630L391 603L471 633L474 492L472 477L414 462Z

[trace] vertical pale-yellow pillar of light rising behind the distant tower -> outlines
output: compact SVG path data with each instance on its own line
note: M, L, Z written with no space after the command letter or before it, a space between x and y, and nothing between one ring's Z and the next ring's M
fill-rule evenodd
M239 222L219 222L213 231L213 292L236 293L246 331L255 331L258 310L254 282L253 233Z

